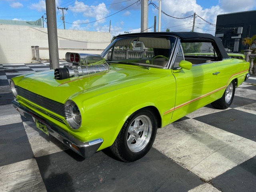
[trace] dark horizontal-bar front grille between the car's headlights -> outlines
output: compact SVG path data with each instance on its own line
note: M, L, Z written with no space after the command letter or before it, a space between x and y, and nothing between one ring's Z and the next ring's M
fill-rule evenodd
M18 95L22 96L23 98L25 98L43 108L46 108L60 116L63 116L64 118L71 117L70 105L66 106L62 103L45 98L45 97L35 94L31 91L28 91L24 88L21 88L19 86L16 86L16 88L17 88Z

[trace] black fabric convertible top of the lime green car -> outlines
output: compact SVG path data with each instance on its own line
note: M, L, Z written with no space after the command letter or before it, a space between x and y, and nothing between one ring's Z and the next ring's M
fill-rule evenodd
M116 36L118 37L127 37L127 36L152 36L152 35L172 35L172 36L177 36L180 38L180 41L192 41L194 40L199 40L199 39L208 39L210 41L215 42L216 46L219 48L220 54L222 56L222 59L229 58L228 54L226 53L224 46L218 37L214 37L211 34L206 34L206 33L197 33L197 32L146 32L146 33L129 33L129 34L122 34Z

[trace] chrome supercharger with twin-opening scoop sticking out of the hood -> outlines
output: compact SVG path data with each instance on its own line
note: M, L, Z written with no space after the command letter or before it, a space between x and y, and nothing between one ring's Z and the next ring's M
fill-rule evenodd
M108 63L100 55L66 53L66 61L72 64L54 70L54 78L58 80L90 75L110 70Z

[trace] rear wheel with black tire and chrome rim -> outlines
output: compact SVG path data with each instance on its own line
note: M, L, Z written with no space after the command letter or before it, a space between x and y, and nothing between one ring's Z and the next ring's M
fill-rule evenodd
M230 82L230 84L227 86L222 97L211 103L212 106L218 109L229 108L234 99L235 89L236 89L235 81L232 80L232 82Z

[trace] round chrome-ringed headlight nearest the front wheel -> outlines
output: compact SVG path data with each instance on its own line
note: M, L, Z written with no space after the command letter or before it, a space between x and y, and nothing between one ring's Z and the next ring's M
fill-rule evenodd
M78 129L81 126L82 117L78 106L71 100L66 102L67 106L70 106L71 117L67 118L69 126L73 129Z

